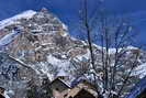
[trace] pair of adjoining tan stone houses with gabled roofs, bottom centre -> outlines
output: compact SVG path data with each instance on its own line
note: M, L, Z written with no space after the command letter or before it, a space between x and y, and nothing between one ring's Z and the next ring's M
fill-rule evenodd
M52 81L50 87L55 98L98 98L94 86L87 80L71 88L64 79L57 77Z

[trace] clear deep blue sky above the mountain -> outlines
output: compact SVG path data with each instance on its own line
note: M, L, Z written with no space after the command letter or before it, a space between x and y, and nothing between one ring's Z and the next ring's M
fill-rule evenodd
M89 0L90 11L97 8L98 0ZM105 8L110 13L130 15L133 24L138 29L138 41L146 44L146 0L104 0ZM49 9L75 34L79 22L80 0L0 0L0 20L13 17L25 10Z

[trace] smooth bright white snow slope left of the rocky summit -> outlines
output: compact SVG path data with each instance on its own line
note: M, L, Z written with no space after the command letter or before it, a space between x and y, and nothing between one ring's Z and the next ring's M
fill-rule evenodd
M27 11L24 11L18 15L14 15L10 19L5 19L5 20L2 20L0 21L0 30L8 26L8 25L11 25L13 24L14 22L16 22L16 20L19 19L30 19L32 18L36 12L33 11L33 10L27 10Z

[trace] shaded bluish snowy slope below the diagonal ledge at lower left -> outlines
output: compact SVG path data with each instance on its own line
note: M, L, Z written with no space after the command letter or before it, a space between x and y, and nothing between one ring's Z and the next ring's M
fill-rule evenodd
M0 87L11 91L9 92L11 97L24 97L27 83L33 78L38 80L34 69L7 53L0 53Z

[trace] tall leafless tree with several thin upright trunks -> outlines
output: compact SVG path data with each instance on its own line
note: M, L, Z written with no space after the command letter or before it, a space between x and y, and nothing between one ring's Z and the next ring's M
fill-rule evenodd
M127 20L106 15L105 10L100 7L103 2L98 3L93 18L89 18L88 0L82 1L83 9L80 13L81 29L87 34L90 51L89 72L93 76L100 98L120 98L124 95L123 88L133 77L134 68L138 66L138 48L128 48L134 43L136 33ZM100 50L94 48L93 33L101 45ZM100 56L97 57L97 54ZM98 86L99 81L102 83L102 90Z

